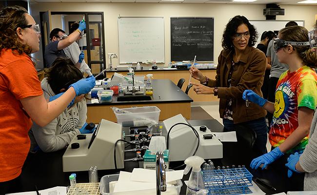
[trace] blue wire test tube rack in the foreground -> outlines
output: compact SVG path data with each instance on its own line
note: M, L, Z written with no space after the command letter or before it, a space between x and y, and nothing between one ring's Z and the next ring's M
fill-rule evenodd
M205 188L208 195L240 195L250 194L252 174L245 168L203 170Z

